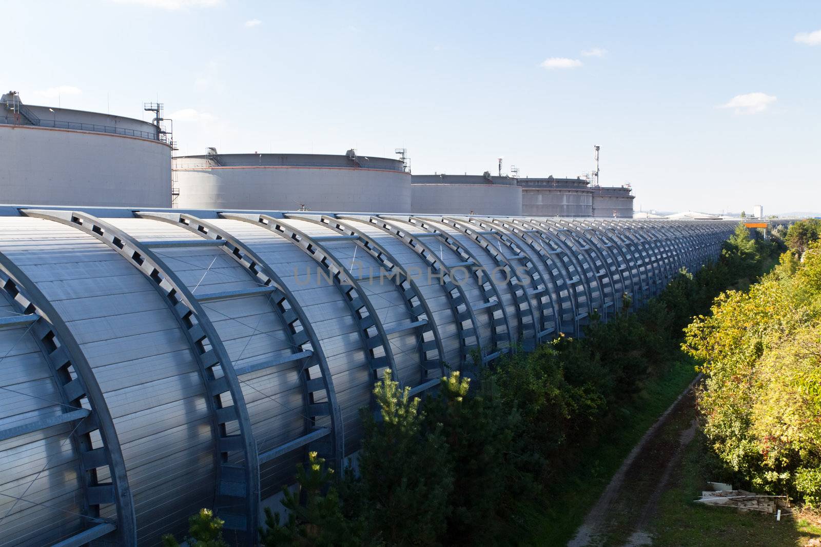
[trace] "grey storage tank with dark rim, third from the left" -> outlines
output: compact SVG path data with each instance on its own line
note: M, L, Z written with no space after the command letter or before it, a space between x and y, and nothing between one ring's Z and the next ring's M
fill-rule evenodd
M410 211L476 215L521 215L516 179L484 175L413 175Z

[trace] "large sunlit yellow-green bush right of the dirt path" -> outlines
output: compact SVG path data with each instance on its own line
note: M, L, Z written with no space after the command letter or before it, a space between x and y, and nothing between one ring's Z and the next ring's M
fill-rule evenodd
M821 242L718 297L683 348L703 363L699 407L718 456L754 487L821 504Z

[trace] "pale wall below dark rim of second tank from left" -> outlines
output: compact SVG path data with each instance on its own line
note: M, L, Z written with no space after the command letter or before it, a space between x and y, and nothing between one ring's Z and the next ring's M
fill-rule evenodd
M322 166L207 166L176 160L177 207L410 212L410 174Z

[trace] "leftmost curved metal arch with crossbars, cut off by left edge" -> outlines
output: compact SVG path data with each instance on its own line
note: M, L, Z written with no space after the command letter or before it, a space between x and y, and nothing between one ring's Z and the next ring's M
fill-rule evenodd
M61 412L53 416L35 417L0 429L0 440L69 424L69 438L74 454L77 454L77 473L82 489L80 517L85 522L80 526L82 531L63 537L59 545L79 546L97 539L113 541L118 545L135 545L134 500L117 431L85 355L48 298L3 253L0 253L0 294L20 314L12 317L14 321L0 323L0 329L25 326L23 336L34 338L44 361L48 363L60 397L60 401L55 403L61 407ZM48 463L47 460L40 472L48 467ZM39 475L34 476L25 491ZM107 476L108 481L100 481L100 476ZM24 506L36 505L34 501L25 499L25 491L19 499L15 499L15 505L17 502ZM101 517L100 508L103 506L113 507L116 517ZM13 508L14 505L2 518L11 517Z

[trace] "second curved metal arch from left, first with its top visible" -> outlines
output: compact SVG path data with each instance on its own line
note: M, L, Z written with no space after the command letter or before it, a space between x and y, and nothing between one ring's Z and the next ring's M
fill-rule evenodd
M252 545L256 540L259 520L259 458L256 442L232 362L200 303L162 259L131 235L108 222L77 211L23 209L21 213L27 217L60 222L93 235L126 258L163 298L190 344L208 394L216 439L214 459L217 464L217 489L214 513L225 521L227 530L239 532L242 542ZM217 376L215 372L222 372L222 376ZM222 394L226 393L230 394L233 403L230 406L225 406L222 402ZM227 432L227 424L231 422L236 422L239 431L237 435L229 435ZM243 500L245 514L232 512L236 506L233 499Z

